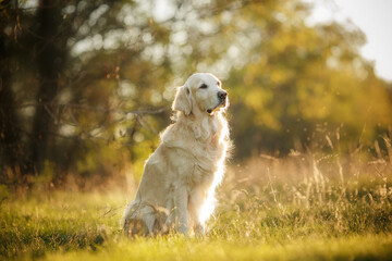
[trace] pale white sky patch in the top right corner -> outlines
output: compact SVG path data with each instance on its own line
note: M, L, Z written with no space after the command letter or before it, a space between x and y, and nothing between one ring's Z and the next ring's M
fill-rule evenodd
M373 62L376 74L392 82L392 0L308 0L315 4L309 23L351 21L366 35L360 54Z

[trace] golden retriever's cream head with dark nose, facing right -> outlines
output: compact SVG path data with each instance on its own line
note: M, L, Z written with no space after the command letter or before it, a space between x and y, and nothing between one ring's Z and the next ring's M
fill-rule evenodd
M185 115L192 112L212 114L228 109L229 104L228 92L221 88L221 82L215 75L196 73L177 88L172 109Z

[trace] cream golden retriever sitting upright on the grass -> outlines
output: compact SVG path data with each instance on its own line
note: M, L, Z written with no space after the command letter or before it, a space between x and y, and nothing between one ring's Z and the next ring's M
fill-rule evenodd
M229 147L228 107L228 92L212 74L196 73L177 88L174 123L161 133L122 217L126 236L205 234Z

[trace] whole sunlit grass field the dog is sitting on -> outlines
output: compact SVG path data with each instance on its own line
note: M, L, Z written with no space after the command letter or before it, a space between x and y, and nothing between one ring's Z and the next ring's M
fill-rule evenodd
M119 220L133 194L121 189L3 196L0 258L392 260L391 178L388 160L360 157L232 164L204 238L124 238Z

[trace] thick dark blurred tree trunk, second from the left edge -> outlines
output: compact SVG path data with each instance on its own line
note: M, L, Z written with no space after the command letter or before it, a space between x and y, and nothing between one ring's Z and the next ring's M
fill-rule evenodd
M59 91L59 77L64 63L66 50L61 37L61 4L53 0L40 0L38 10L38 35L44 38L36 46L39 89L36 101L37 109L33 123L32 160L39 173L46 160L50 160L50 151L54 142L56 115L51 103Z

